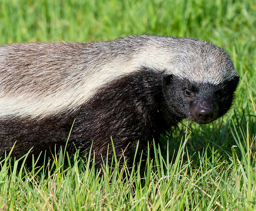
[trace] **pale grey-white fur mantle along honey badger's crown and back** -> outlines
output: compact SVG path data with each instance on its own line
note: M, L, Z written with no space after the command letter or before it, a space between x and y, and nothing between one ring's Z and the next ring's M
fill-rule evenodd
M239 77L223 49L193 38L11 44L0 47L0 116L74 111L101 87L142 67L216 85Z

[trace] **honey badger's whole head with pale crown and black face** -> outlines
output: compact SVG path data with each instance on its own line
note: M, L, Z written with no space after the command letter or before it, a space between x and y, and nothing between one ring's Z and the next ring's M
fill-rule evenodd
M161 58L165 103L177 121L208 124L231 107L239 75L229 55L202 40L174 38ZM160 51L160 50L158 50ZM165 56L164 56L165 55Z

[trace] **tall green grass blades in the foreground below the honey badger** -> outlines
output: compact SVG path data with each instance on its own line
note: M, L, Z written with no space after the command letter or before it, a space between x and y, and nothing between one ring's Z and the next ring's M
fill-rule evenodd
M12 167L9 155L1 163L1 209L255 210L255 149L248 128L245 134L232 128L237 145L231 147L227 160L217 156L223 154L221 149L212 152L209 147L189 155L189 135L180 140L175 158L163 158L154 145L155 159L148 156L145 168L140 161L120 171L115 157L98 172L94 162L90 167L77 154L73 162L66 158L64 168L62 153L52 164L30 171L22 164L17 170L19 161Z

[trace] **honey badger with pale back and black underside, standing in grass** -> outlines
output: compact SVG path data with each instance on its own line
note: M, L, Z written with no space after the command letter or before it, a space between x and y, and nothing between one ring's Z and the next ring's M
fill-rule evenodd
M194 38L137 35L95 43L0 47L0 157L65 146L132 162L187 118L208 124L231 107L239 74L229 55Z

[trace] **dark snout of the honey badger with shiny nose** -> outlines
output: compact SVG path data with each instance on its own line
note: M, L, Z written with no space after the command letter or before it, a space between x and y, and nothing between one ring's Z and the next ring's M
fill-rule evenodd
M199 124L208 124L218 116L218 105L213 101L200 101L192 107L193 120Z

